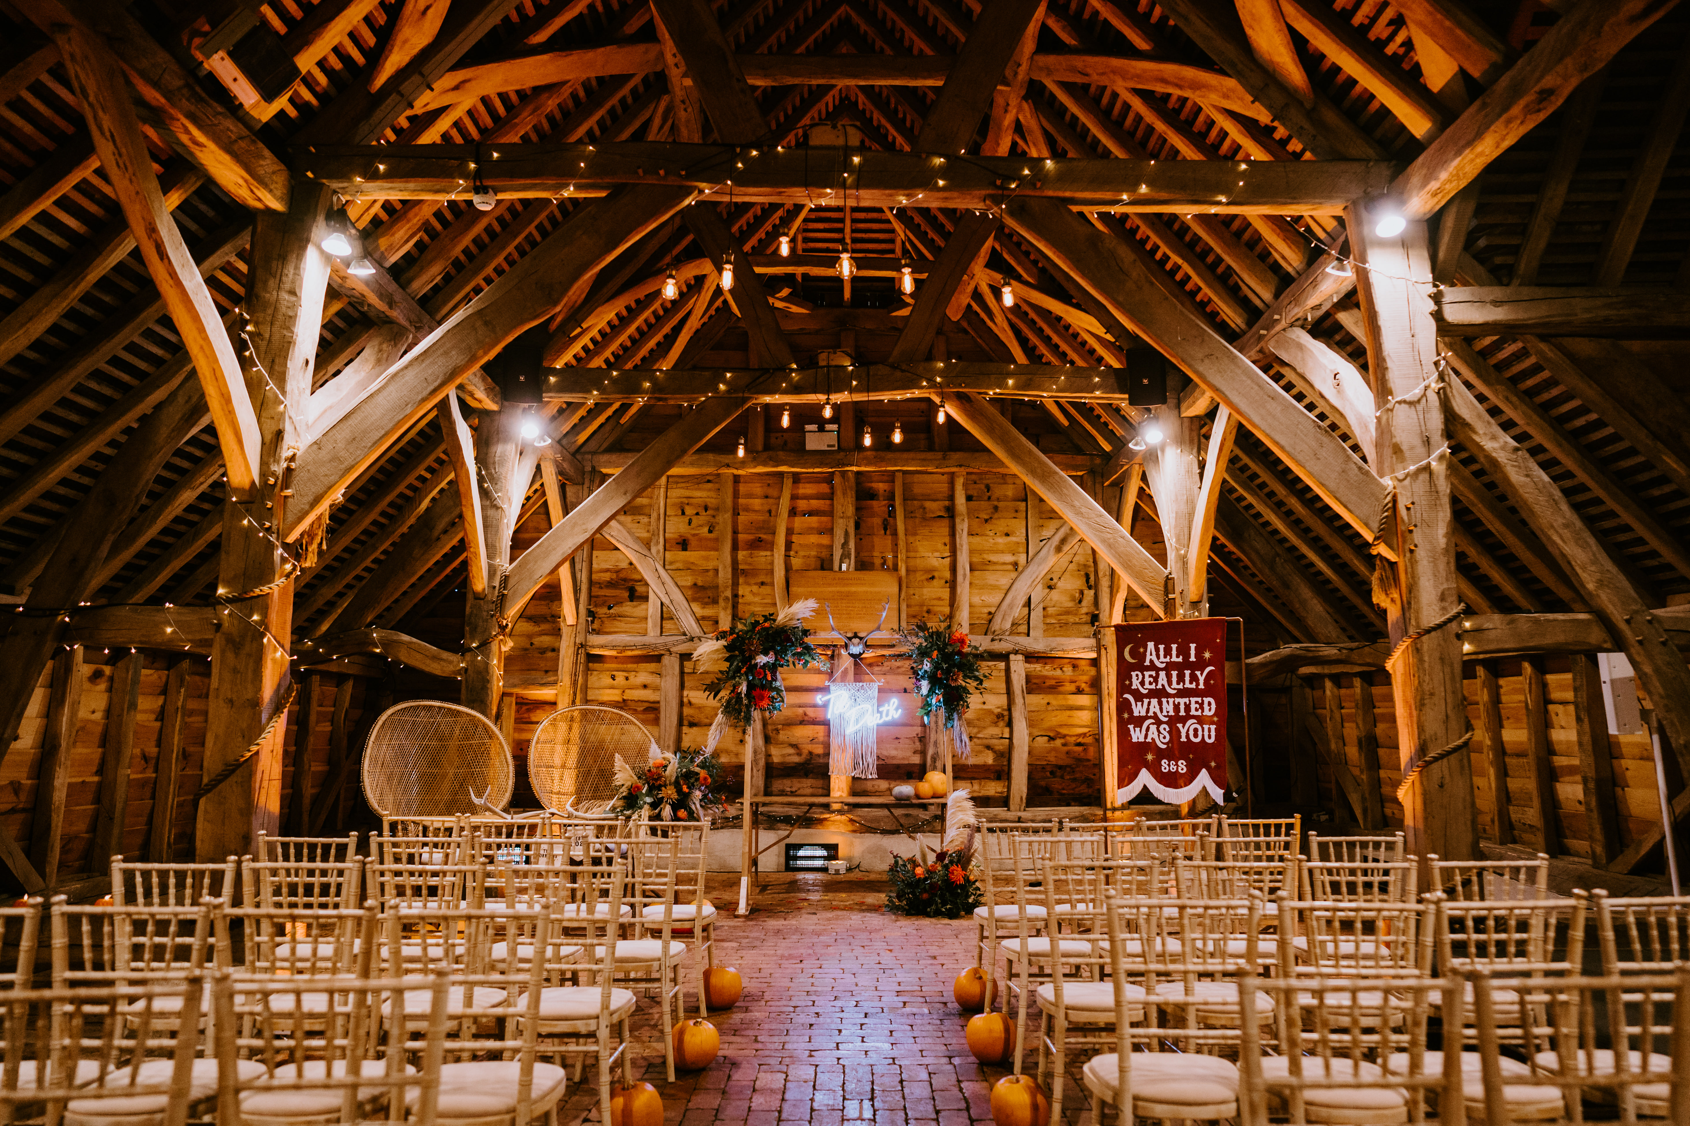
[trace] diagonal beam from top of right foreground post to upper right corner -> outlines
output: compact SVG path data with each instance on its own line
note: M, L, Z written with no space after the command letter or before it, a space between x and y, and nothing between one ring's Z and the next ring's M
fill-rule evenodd
M1580 0L1408 165L1391 198L1409 219L1436 213L1675 3Z

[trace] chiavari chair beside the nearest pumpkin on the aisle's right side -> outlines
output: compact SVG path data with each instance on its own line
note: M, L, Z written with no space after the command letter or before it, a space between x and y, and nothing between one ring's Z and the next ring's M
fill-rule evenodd
M1154 861L1151 869L1154 871ZM1055 932L1085 935L1088 945L1085 954L1065 954L1061 972L1051 974L1049 981L1034 989L1039 1008L1039 1079L1049 1085L1053 1123L1061 1121L1070 1050L1097 1052L1114 1043L1115 984L1107 981L1110 961L1104 891L1107 888L1117 895L1132 895L1139 891L1132 885L1142 874L1136 861L1044 864L1041 890L1048 918L1058 920ZM1126 989L1127 1018L1142 1021L1144 988L1127 984Z

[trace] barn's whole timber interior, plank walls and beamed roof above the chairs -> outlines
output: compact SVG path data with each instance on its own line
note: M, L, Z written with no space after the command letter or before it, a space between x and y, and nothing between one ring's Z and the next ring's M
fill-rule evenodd
M559 707L698 748L693 650L806 596L835 669L886 608L860 669L896 714L835 773L833 674L788 670L717 746L720 871L884 868L933 770L989 820L1114 810L1100 636L1212 616L1225 812L1665 873L1682 5L0 19L17 891L372 827L406 701L485 716L514 809ZM982 658L967 760L918 623Z

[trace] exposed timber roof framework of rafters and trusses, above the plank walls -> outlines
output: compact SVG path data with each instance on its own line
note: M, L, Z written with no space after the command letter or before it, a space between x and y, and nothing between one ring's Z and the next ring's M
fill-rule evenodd
M733 452L821 400L931 432L850 468L1022 474L1154 613L1213 574L1357 647L1328 660L1457 601L1594 614L1690 755L1683 663L1624 625L1690 589L1690 412L1617 343L1690 331L1651 211L1670 0L1506 34L1462 0L233 7L5 7L7 744L90 603L255 626L184 641L252 662L237 751L289 653L473 679L595 535L674 587L617 520L666 474L845 468ZM235 98L252 27L297 78ZM517 339L534 405L495 378ZM1154 410L1144 348L1185 385ZM407 648L460 584L463 653Z

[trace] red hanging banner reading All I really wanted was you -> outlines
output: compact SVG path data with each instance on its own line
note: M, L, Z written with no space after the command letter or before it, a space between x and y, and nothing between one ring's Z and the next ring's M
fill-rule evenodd
M1227 620L1114 626L1115 800L1227 790Z

